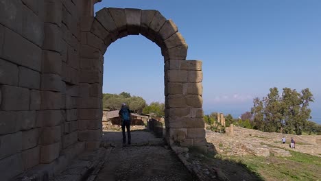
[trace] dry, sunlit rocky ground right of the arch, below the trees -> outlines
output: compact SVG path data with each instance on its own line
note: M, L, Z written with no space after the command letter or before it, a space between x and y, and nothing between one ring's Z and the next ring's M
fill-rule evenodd
M226 129L226 134L206 131L206 140L213 143L218 154L230 156L291 156L289 141L293 137L296 141L296 152L321 157L321 136L281 134L275 132L260 132L246 128L234 127L234 135ZM285 136L286 143L281 143Z

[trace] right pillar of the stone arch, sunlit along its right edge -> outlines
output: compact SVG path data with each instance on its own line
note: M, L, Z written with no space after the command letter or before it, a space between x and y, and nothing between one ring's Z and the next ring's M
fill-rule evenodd
M202 62L165 62L165 125L171 145L206 146L201 82Z

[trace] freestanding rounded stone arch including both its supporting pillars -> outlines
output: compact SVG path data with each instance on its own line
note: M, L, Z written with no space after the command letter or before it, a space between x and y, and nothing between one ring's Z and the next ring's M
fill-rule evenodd
M206 147L202 110L202 62L186 60L187 43L171 20L157 10L103 8L80 21L80 86L98 93L80 98L80 121L101 120L103 55L118 38L141 34L161 49L165 72L165 127L170 145ZM100 98L100 100L99 100ZM94 105L91 105L94 104ZM97 106L99 105L99 106ZM84 117L82 117L82 115ZM86 128L78 138L99 143L99 130Z

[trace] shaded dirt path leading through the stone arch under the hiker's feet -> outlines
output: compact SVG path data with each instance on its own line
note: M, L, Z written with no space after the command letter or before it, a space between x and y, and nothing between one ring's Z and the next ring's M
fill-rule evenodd
M97 181L105 180L195 180L170 149L163 138L150 132L132 132L132 145L122 147L121 132L106 130L107 144L115 146L106 157Z

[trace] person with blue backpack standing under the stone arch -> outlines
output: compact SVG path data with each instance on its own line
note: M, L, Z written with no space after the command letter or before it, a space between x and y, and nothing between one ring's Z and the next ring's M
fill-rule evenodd
M128 145L130 145L131 136L130 136L130 110L126 103L121 104L121 110L119 110L119 117L121 118L121 130L123 131L123 144L126 144L126 134L125 134L125 127L127 130L128 136Z

